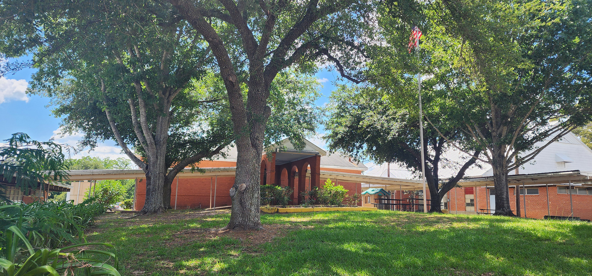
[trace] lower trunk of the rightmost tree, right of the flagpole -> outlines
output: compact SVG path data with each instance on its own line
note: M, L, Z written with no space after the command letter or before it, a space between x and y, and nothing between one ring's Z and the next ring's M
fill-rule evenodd
M496 188L496 216L514 216L510 208L507 161L503 154L492 154L493 184Z

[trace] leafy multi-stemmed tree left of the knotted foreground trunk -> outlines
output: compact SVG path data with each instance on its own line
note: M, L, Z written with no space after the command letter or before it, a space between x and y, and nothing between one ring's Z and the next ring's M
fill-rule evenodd
M54 97L66 131L84 132L82 145L91 147L115 139L146 172L143 213L162 212L176 173L236 138L229 120L236 106L216 85L223 76L211 46L167 2L15 1L2 6L2 18L11 19L0 26L2 52L33 53L39 71L31 91ZM274 126L260 142L303 137L316 125L307 105L317 83L285 68L266 86L276 99L266 110L294 128ZM241 101L247 89L235 91Z

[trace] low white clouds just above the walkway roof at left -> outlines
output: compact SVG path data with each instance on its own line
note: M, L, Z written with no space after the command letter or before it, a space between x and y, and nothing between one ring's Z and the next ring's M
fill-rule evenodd
M80 133L75 133L72 135L64 134L64 133L62 133L62 128L58 128L53 131L52 138L54 138L55 141L59 144L67 144L67 145L71 145L71 146L76 147L78 140L82 138L82 134L80 134ZM73 153L74 152L72 152L72 154ZM126 159L130 159L127 157L126 154L121 152L120 147L115 146L114 141L105 141L105 142L99 143L96 146L96 148L92 151L89 151L88 148L85 148L82 151L71 155L69 158L81 158L83 156L100 157L100 158L109 157L111 159L123 157Z

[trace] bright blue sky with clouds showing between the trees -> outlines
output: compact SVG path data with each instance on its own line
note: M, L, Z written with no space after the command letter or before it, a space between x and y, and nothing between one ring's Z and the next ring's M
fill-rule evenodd
M31 74L34 69L24 69L20 72L9 74L0 78L0 114L2 116L0 124L0 139L7 139L15 132L25 132L31 138L38 141L47 141L50 138L56 139L62 144L76 145L80 135L66 135L61 137L59 133L60 119L52 115L52 106L50 99L40 96L25 95L24 89L26 82L31 80ZM316 103L323 106L329 101L331 91L335 89L337 72L321 70L316 77L323 87L321 93L323 96L317 99ZM319 128L322 132L322 127ZM319 137L310 137L314 144L324 148L325 143ZM114 142L106 141L97 147L94 151L82 151L72 156L79 158L85 155L98 157L125 157L121 154L120 148L114 147Z

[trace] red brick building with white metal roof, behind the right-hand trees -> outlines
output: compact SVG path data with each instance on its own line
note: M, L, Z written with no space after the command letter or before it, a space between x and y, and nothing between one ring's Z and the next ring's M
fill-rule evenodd
M538 146L546 144L540 142ZM525 152L523 154L528 154ZM458 164L466 155L457 150L443 153L445 166L440 168L440 179L455 176ZM455 167L456 166L456 167ZM369 164L366 171L372 176L417 179L413 171L402 164ZM442 200L443 209L451 213L491 213L495 206L491 165L479 163L466 171L467 180L459 181ZM514 214L521 217L574 217L592 220L592 150L571 132L542 150L535 159L509 173L510 204ZM516 195L516 185L519 194ZM524 187L523 187L524 185ZM571 190L570 190L571 187ZM393 199L400 199L396 186L384 187ZM526 191L524 190L526 189ZM570 191L568 191L570 190ZM521 191L521 192L520 192ZM410 191L403 189L403 199ZM421 197L421 194L416 195ZM427 192L427 199L429 191ZM573 211L572 211L573 210Z

